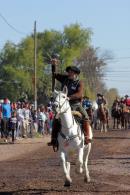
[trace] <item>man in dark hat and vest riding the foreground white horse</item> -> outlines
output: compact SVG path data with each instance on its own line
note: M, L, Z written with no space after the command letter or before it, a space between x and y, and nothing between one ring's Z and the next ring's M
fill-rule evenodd
M54 63L54 62L53 62ZM76 66L68 66L66 68L67 74L54 73L55 78L62 84L61 89L64 86L68 88L68 99L72 110L79 111L83 116L83 131L85 135L85 144L89 143L89 117L86 110L82 107L82 98L84 84L83 81L79 80L80 70ZM57 137L61 126L59 120L53 120L51 142L48 143L49 146L57 147Z

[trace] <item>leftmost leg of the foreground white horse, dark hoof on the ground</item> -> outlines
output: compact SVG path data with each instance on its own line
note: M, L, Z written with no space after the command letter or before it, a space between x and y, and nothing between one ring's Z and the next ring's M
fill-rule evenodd
M72 179L70 177L70 162L66 161L66 155L64 152L61 152L61 160L63 164L63 171L65 174L65 183L64 186L70 186Z

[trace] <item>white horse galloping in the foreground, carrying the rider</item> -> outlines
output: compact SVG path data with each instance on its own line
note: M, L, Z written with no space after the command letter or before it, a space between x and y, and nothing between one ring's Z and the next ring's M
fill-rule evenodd
M72 179L70 177L70 160L72 154L77 154L76 171L83 173L85 171L84 181L89 182L88 157L91 150L91 142L84 145L84 134L80 125L76 123L71 112L71 107L67 98L67 88L61 91L54 91L54 108L57 117L61 120L61 131L58 135L59 154L63 164L65 174L64 186L70 186ZM89 128L89 139L92 139L91 126Z

